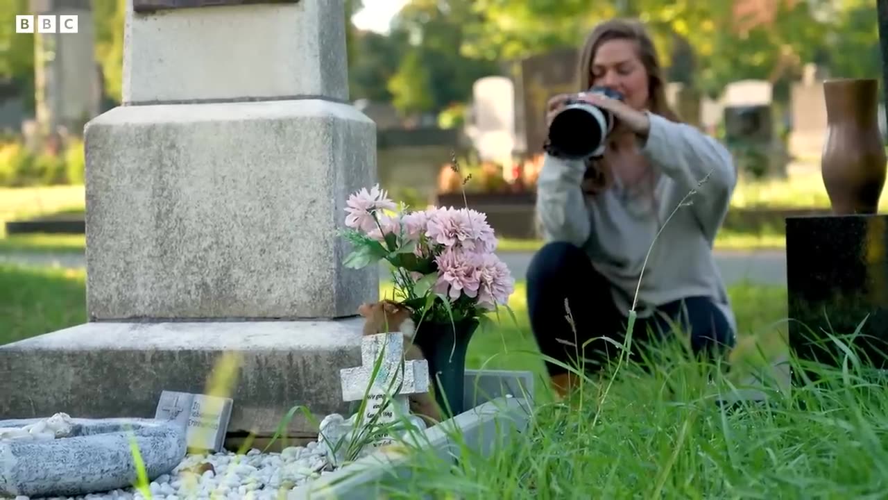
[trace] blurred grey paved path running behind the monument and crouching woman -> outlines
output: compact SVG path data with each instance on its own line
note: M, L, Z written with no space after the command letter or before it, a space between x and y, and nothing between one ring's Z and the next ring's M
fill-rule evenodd
M531 256L525 252L508 252L503 253L501 258L515 278L523 279ZM716 260L728 285L744 280L761 285L786 284L786 255L782 251L719 251ZM65 268L84 266L82 254L0 254L0 262ZM380 272L380 278L387 276L387 273Z

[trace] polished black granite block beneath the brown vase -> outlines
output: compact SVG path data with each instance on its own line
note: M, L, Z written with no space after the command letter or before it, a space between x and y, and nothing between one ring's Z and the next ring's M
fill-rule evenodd
M788 217L786 260L797 359L840 367L845 353L835 335L864 367L888 367L888 215ZM799 375L794 370L801 383Z

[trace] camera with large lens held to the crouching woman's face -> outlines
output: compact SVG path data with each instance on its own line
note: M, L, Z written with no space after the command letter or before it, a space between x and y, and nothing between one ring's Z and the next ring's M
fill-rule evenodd
M593 86L586 93L599 93L622 101L621 93ZM548 149L554 156L570 159L602 157L607 135L614 130L614 114L586 101L571 99L549 125Z

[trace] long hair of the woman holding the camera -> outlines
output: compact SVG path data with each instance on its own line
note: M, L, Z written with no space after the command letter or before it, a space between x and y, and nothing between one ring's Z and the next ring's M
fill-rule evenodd
M666 82L663 78L660 60L657 58L654 41L647 33L644 24L638 20L614 19L599 23L586 36L583 50L577 58L577 92L584 92L592 85L592 63L595 53L605 42L611 40L632 40L638 44L638 59L647 73L647 100L652 113L665 117L673 122L682 121L678 113L670 108L666 101ZM583 179L583 191L595 194L607 190L614 181L612 167L604 158L586 160L586 173Z

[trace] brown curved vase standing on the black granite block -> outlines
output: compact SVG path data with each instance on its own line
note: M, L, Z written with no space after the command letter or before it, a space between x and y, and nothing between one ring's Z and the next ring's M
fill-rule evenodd
M876 214L885 183L878 124L878 80L823 82L827 133L821 174L836 215Z

